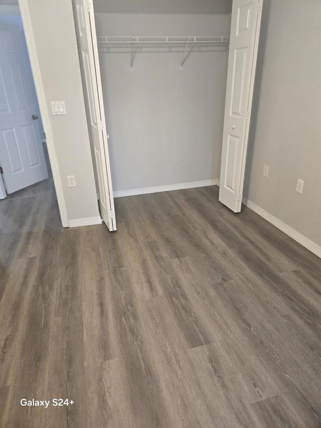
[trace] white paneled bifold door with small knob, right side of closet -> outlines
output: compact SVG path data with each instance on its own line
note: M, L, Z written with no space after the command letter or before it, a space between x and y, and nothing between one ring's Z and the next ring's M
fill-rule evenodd
M219 200L241 211L263 0L233 0Z

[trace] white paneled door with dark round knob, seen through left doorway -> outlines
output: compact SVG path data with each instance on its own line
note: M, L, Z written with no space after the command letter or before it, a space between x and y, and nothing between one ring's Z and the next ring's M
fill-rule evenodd
M8 193L48 178L23 49L19 27L0 23L0 165Z

